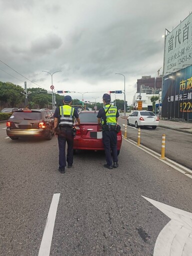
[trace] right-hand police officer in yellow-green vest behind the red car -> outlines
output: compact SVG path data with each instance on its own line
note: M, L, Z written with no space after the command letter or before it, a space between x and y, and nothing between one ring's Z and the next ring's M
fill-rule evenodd
M104 93L102 99L104 106L99 109L97 120L98 123L101 123L102 142L105 150L106 164L103 166L105 168L112 169L112 167L118 167L116 124L119 113L116 106L112 106L110 104L109 94ZM112 150L112 159L110 150Z

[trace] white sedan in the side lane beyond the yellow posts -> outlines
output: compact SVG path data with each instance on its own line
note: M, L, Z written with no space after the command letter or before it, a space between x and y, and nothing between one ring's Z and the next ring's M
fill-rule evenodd
M151 126L155 129L158 126L159 118L152 111L140 110L134 111L127 117L127 125Z

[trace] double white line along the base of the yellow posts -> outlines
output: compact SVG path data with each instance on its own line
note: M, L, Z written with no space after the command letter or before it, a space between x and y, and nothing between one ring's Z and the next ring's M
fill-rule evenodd
M123 135L122 135L122 136L123 136ZM123 136L123 137L124 137L124 136ZM153 150L151 150L151 149L149 149L149 148L147 148L147 147L145 147L145 146L143 146L143 145L137 146L137 144L136 144L134 141L131 141L130 139L124 139L124 140L126 140L128 143L131 143L132 145L138 147L139 149L145 151L146 153L152 155L152 156L155 157L156 159L158 159L158 160L164 162L166 165L168 165L168 166L174 168L175 170L178 170L179 172L181 172L182 174L186 175L187 177L192 178L192 175L190 175L190 174L188 174L188 173L185 173L183 170L179 169L179 167L192 174L192 171L191 171L190 169L188 169L188 168L182 166L181 164L179 164L179 163L177 163L177 162L174 162L173 160L171 160L171 159L169 159L169 158L167 158L167 157L166 157L166 160L160 159L160 158L159 158L159 157L160 157L160 154L158 154L157 152L155 152L155 151L153 151ZM144 148L146 148L147 150L144 149ZM148 151L151 151L152 153L150 153L150 152L148 152ZM159 155L159 156L158 156L158 155ZM173 163L173 164L176 164L177 167L174 166L173 164L171 164L170 162Z

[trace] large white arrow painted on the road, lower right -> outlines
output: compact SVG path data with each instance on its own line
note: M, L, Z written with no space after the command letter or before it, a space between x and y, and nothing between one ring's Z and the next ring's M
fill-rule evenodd
M192 255L192 213L144 197L171 220L160 231L154 256Z

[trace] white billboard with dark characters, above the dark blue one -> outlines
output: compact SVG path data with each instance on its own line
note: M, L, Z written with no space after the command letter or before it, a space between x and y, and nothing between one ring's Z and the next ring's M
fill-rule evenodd
M166 29L166 31L168 31ZM192 12L165 35L163 74L192 64Z

